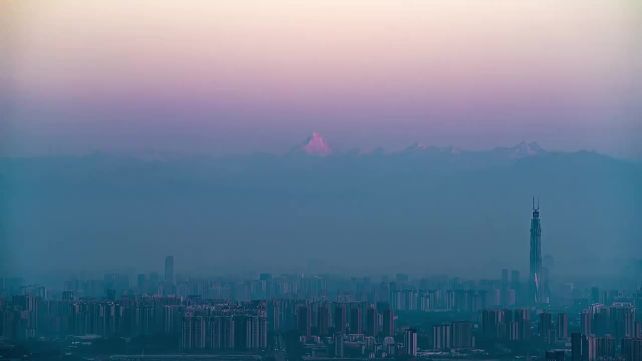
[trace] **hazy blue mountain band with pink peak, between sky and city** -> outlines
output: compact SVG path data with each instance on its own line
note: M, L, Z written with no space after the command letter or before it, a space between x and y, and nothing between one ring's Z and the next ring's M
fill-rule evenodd
M173 254L177 270L315 258L336 271L498 276L526 271L534 196L553 273L619 270L614 259L642 254L640 163L536 143L342 153L314 137L302 148L313 151L286 155L1 159L0 264L144 271Z

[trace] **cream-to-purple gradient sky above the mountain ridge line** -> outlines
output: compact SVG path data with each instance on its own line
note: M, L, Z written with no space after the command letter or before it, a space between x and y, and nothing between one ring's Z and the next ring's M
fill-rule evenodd
M0 152L642 154L634 0L4 0Z

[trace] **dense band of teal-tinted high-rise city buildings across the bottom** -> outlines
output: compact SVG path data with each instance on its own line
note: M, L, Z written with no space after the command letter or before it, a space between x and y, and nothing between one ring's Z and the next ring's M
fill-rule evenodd
M640 272L638 267L634 274ZM261 273L167 281L152 272L139 274L135 284L116 273L73 276L60 286L0 277L0 340L83 340L87 349L71 348L66 355L108 352L135 359L144 353L152 360L176 352L177 359L238 354L261 360L282 353L331 360L425 358L444 351L460 357L484 350L499 359L545 353L547 361L638 361L642 288L636 278L620 277L616 289L602 289L598 279L575 285L554 278L541 285L550 297L534 303L519 276L505 287L506 274ZM120 341L98 346L105 339Z

